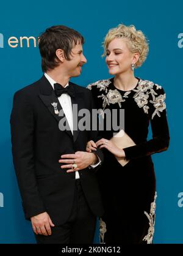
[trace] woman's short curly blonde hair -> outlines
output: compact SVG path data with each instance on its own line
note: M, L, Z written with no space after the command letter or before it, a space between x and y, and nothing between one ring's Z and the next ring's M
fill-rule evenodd
M107 47L115 38L127 39L127 48L132 53L139 53L139 59L135 63L135 67L142 66L149 51L149 45L143 32L136 30L134 25L125 26L124 24L119 24L116 28L109 29L109 32L102 43L104 47L104 54L102 56L106 56Z

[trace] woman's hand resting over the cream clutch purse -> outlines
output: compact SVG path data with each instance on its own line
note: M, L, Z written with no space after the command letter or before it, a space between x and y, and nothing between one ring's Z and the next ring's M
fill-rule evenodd
M125 152L123 149L118 148L112 141L106 140L106 138L101 138L96 142L96 146L99 148L106 148L109 150L115 157L125 157Z

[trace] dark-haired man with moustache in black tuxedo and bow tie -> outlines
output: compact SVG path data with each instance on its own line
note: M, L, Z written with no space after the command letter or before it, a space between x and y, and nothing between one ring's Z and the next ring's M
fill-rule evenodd
M76 129L73 119L74 105L78 111L93 109L91 92L69 81L87 61L83 43L74 29L46 29L39 37L44 75L13 100L13 163L37 243L92 243L96 216L103 213L95 176L102 152L85 152L97 134Z

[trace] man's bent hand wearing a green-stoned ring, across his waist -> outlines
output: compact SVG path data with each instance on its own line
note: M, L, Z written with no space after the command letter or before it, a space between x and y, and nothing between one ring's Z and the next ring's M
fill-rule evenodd
M64 163L61 168L69 168L67 173L72 171L79 171L87 168L89 165L96 164L98 157L94 153L77 151L75 154L65 154L61 156L59 163ZM77 168L72 169L73 164L77 165Z

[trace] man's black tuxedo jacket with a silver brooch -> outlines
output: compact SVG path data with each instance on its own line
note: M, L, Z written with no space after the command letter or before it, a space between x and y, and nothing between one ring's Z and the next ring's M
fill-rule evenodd
M81 86L74 87L78 111L93 109L91 92ZM15 93L10 118L12 154L26 219L47 212L56 225L70 216L75 189L75 171L66 173L59 163L62 154L85 151L88 140L96 140L97 131L60 130L60 116L54 111L62 108L51 84L43 76L32 85ZM78 117L79 119L82 117ZM96 154L103 160L102 152ZM103 214L101 195L96 179L96 168L79 171L82 189L91 211Z

